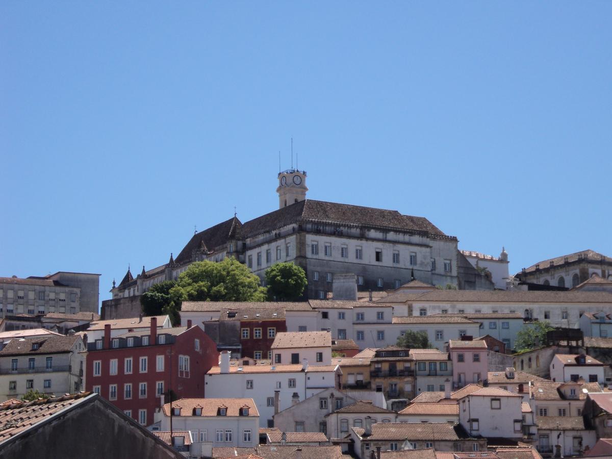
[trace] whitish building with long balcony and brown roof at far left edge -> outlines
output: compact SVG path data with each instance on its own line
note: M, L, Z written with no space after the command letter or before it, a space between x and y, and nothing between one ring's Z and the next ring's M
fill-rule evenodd
M56 395L83 390L84 350L78 335L11 340L0 351L0 401L28 390Z

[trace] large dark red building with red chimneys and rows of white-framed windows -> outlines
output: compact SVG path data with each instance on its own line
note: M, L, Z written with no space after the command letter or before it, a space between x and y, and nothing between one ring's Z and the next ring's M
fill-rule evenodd
M100 340L99 340L100 341ZM142 425L153 423L160 395L204 397L204 375L218 365L217 345L200 327L151 328L88 343L86 390L97 392Z

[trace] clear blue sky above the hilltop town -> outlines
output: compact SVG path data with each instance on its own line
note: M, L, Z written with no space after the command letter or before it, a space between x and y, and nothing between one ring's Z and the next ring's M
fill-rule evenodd
M510 271L612 255L612 2L0 2L0 275L109 297L308 197L422 215Z

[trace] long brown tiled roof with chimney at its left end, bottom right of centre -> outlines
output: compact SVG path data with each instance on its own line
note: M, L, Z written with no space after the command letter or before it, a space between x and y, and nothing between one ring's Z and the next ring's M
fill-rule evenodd
M364 435L362 428L353 427L353 431L360 437ZM367 437L368 441L404 441L406 438L412 441L457 441L469 438L469 435L460 424L448 422L387 422L373 424L372 435Z

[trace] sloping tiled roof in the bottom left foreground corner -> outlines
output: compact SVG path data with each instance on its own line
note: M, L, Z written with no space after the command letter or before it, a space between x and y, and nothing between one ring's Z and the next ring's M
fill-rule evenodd
M89 400L89 397L99 397L91 392L75 395L64 395L47 400L22 401L15 405L0 407L0 443L18 433L28 430L35 424L47 420L63 409Z

